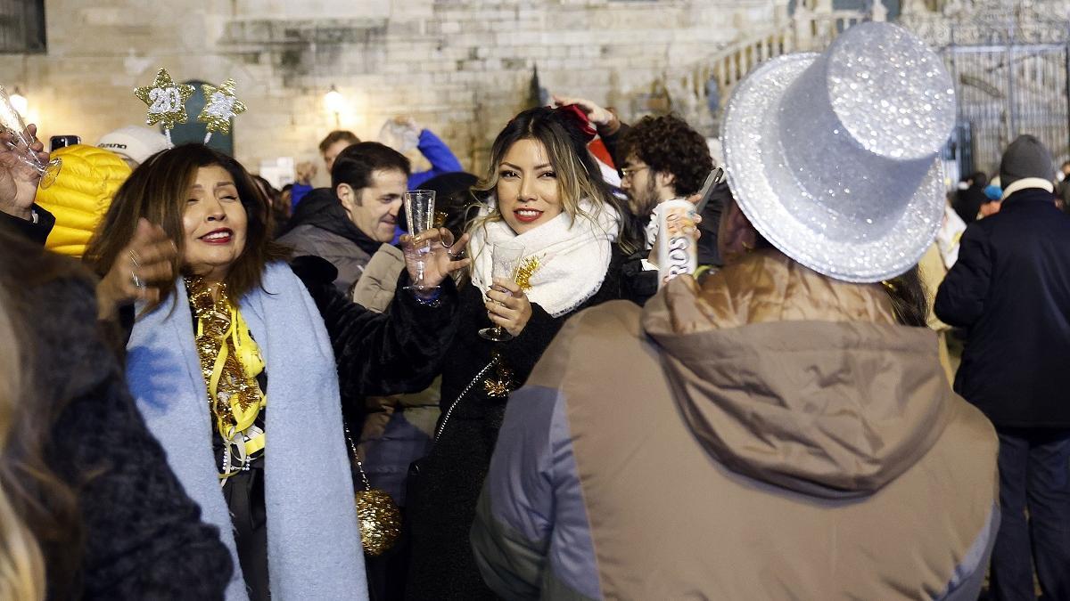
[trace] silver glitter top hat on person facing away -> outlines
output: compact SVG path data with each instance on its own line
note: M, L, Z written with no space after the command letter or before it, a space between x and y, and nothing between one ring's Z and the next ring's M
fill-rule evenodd
M739 82L722 128L729 183L792 259L840 280L887 279L939 228L938 153L954 117L939 57L898 26L857 25L824 53L767 61Z

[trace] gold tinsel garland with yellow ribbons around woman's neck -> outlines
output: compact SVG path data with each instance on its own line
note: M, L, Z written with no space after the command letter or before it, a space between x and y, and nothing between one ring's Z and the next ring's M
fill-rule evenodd
M264 369L260 348L230 302L226 284L214 287L215 294L203 278L186 278L209 410L224 441L221 483L247 468L254 454L263 450L264 431L256 420L268 399L256 380Z

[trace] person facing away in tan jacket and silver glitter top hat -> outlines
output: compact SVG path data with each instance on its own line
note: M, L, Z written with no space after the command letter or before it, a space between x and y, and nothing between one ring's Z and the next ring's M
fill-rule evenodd
M471 533L498 595L977 599L996 437L948 384L914 267L950 88L887 24L739 84L724 267L579 313L514 392Z

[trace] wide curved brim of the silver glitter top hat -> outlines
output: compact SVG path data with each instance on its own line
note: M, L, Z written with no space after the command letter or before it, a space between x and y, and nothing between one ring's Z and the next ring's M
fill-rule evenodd
M849 227L836 222L846 218L831 213L820 198L811 198L784 167L776 126L784 94L819 56L796 53L766 61L737 84L725 107L721 136L729 185L744 215L784 255L843 281L889 279L917 264L936 236L944 214L943 164L937 156L915 189L888 190L888 201L902 207L898 218ZM813 152L822 152L821 141L814 144ZM830 229L839 236L827 235ZM851 235L844 237L844 231Z

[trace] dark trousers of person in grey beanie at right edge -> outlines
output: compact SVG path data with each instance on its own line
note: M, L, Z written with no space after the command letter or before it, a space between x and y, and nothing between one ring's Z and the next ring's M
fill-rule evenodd
M1036 563L1044 599L1070 599L1070 430L996 432L1003 522L992 551L992 598L1036 599Z

